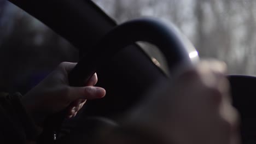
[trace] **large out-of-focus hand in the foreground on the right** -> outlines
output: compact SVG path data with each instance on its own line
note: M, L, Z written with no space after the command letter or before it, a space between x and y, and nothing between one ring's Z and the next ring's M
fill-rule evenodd
M239 143L239 117L231 105L225 63L202 61L179 71L174 80L150 92L127 123L151 129L168 143Z

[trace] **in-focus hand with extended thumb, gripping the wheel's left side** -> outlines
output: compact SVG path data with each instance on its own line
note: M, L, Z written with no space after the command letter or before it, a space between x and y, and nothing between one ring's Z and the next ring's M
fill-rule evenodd
M98 99L106 94L103 88L95 87L96 73L84 87L69 86L68 73L75 64L62 62L42 82L22 97L22 104L38 125L41 125L49 115L66 108L68 109L67 117L74 117L83 107L86 99Z

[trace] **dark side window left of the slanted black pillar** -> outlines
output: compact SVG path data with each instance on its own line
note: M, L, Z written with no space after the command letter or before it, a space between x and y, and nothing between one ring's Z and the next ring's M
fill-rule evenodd
M78 51L8 1L0 0L0 91L26 92Z

